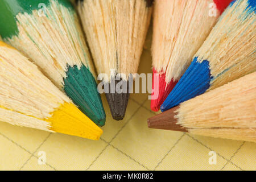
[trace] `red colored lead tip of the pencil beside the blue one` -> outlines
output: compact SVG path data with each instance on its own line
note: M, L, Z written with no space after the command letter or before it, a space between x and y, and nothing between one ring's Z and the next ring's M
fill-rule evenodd
M156 77L155 74L159 74ZM166 73L158 73L153 68L153 81L152 81L152 97L151 97L151 110L159 111L160 106L163 104L163 101L166 100L168 94L174 89L174 86L177 84L177 81L171 80L171 82L166 86Z

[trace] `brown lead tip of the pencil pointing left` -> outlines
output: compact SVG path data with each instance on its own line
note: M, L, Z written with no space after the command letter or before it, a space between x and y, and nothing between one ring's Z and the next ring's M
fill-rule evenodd
M183 131L188 132L186 128L177 124L177 119L175 118L175 113L179 109L179 106L173 107L161 114L155 115L152 118L147 119L147 125L151 129L162 129L162 130L172 130L172 131Z

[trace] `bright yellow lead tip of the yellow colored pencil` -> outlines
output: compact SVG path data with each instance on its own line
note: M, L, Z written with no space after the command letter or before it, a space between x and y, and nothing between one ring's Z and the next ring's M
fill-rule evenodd
M57 133L98 140L103 131L75 105L65 102L46 119Z

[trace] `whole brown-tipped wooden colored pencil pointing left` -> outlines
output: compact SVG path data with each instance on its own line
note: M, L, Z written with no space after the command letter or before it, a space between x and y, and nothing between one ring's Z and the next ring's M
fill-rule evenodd
M148 119L148 127L256 142L256 72Z

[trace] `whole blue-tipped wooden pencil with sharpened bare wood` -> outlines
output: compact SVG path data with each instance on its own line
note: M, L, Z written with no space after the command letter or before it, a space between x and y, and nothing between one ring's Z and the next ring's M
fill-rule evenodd
M230 3L163 102L162 111L256 71L255 5L251 0Z

